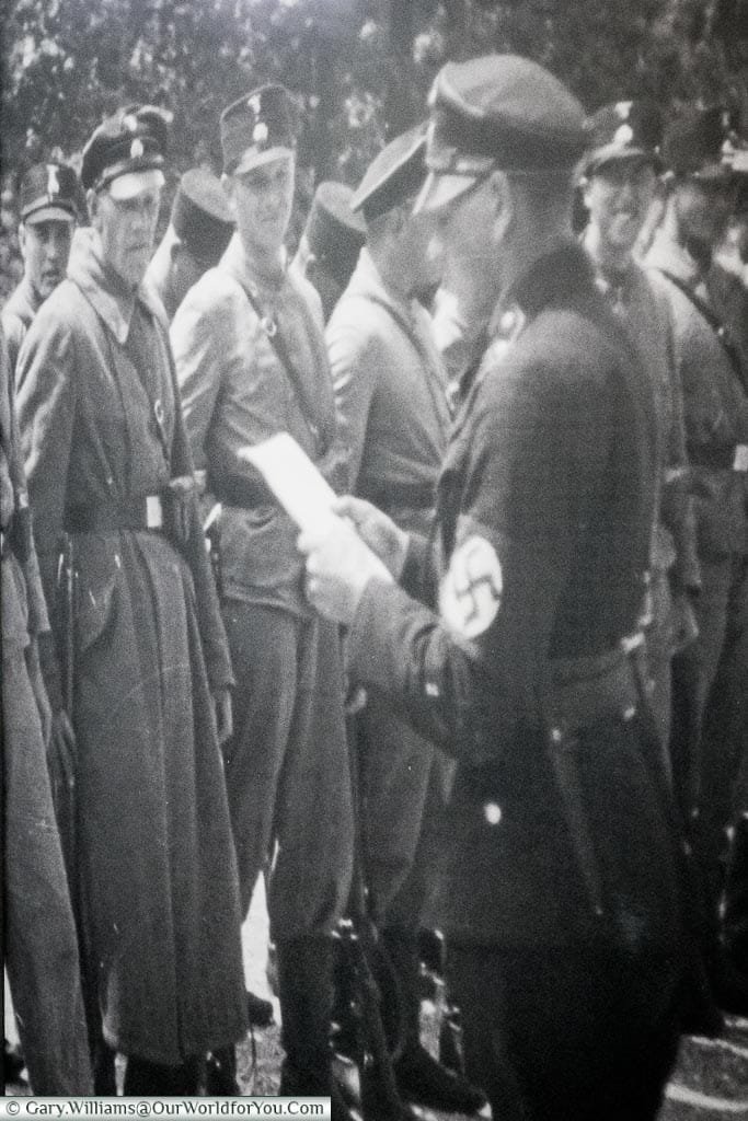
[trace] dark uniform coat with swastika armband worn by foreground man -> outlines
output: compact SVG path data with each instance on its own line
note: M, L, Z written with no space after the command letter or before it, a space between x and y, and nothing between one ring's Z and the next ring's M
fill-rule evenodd
M367 585L348 640L351 676L458 759L440 844L445 928L516 947L590 936L550 766L550 684L571 659L594 707L592 666L622 659L657 458L649 377L581 248L537 261L514 298L524 326L488 348L456 418L433 548L414 545L403 587ZM611 714L600 701L579 761L607 900L626 938L666 937L650 779L622 704Z

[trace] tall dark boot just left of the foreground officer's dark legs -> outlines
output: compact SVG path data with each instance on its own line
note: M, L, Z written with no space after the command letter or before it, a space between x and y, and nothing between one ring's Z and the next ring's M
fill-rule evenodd
M395 1078L403 1099L427 1109L451 1113L479 1113L488 1099L462 1075L447 1071L421 1044L421 955L418 937L407 927L388 926L381 932L385 948L400 989L403 1047L395 1062Z

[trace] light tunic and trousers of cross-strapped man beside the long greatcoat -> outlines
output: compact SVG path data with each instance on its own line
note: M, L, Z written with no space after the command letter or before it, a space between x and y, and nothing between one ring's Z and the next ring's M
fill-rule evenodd
M238 683L224 754L242 904L275 839L274 936L327 933L347 904L352 859L340 638L304 597L297 528L238 455L288 432L332 469L318 296L288 271L262 278L236 235L187 293L170 335L195 466L223 506L223 615Z

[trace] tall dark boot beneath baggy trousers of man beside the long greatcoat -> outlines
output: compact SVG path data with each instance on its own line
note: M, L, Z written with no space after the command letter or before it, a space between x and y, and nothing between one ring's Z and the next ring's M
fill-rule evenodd
M281 1095L330 1095L332 1121L352 1121L332 1075L332 939L318 935L278 938L278 999L286 1056Z

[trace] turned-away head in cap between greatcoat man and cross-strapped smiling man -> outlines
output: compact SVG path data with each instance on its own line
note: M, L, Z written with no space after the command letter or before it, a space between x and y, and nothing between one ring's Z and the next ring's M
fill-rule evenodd
M146 272L169 323L192 286L221 260L233 230L225 192L215 176L204 167L185 172L168 228Z

